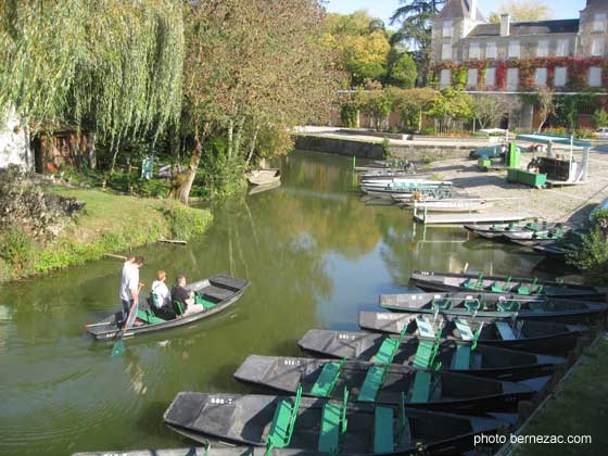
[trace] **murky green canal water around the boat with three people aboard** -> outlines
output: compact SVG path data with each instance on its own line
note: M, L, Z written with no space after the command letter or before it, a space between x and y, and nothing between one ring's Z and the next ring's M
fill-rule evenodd
M137 251L148 259L147 284L159 268L170 278L228 273L251 281L210 320L127 340L125 355L112 358L111 345L93 342L83 325L119 308L119 262L0 288L0 454L185 445L162 421L175 394L251 391L231 377L249 354L299 355L296 341L311 328L356 329L358 312L404 290L414 269L468 263L525 276L540 261L365 204L351 159L295 151L280 166L280 188L212 206L205 236Z

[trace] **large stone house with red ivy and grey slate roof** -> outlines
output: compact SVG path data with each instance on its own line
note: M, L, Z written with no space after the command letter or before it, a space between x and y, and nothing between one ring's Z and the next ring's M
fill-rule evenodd
M483 1L483 0L479 0ZM432 28L431 84L469 93L521 96L546 87L565 97L592 94L587 111L608 102L608 0L587 0L579 18L489 23L478 0L447 0ZM585 114L581 113L584 119ZM535 127L523 103L509 124ZM584 122L583 122L584 123Z

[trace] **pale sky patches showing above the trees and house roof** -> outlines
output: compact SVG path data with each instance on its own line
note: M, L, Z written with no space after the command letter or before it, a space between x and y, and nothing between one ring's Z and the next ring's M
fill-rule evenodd
M586 0L541 0L549 5L555 18L575 18L579 11L585 8ZM478 8L487 17L503 0L478 0ZM387 25L393 12L400 5L398 0L327 0L327 9L337 13L352 13L355 10L367 10L372 16L380 17Z

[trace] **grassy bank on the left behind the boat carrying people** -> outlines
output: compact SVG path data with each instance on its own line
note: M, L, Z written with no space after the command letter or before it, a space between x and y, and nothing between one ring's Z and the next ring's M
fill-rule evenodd
M156 242L163 236L189 239L202 233L212 219L207 211L168 200L62 187L53 191L83 201L84 210L47 244L25 236L18 228L5 232L0 240L0 281L99 259L104 253Z

